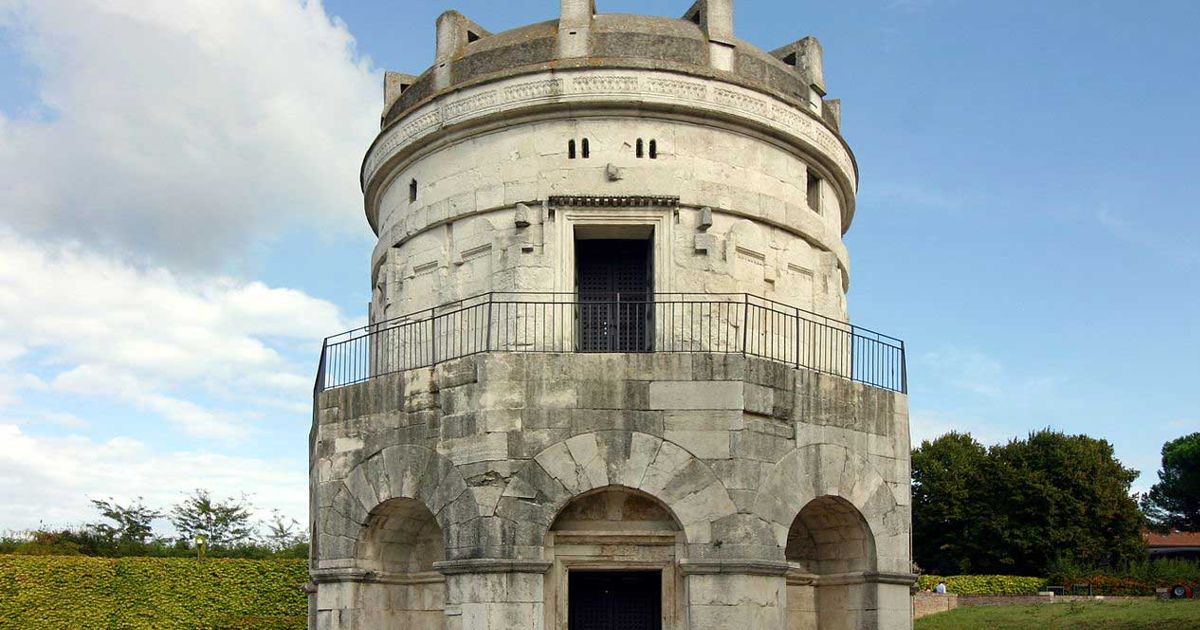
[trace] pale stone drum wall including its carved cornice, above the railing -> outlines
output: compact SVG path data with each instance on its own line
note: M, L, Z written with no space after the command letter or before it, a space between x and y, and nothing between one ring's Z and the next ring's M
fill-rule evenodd
M654 157L640 155L650 142ZM583 223L653 229L656 292L752 293L846 319L852 155L811 112L712 77L559 68L467 85L384 130L364 185L372 322L490 290L570 294Z

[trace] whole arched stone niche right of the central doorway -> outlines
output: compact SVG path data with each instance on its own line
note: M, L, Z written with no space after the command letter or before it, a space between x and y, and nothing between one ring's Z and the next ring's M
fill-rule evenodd
M870 626L876 604L866 577L875 569L871 529L850 502L817 497L796 515L784 552L788 630Z

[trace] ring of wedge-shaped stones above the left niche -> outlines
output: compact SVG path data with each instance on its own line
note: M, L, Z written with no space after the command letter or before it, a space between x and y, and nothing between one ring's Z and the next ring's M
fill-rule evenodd
M355 540L354 556L359 559L367 557L372 517L386 518L395 505L410 505L395 503L400 499L419 504L432 515L443 547L449 546L446 536L456 523L479 516L475 498L454 462L415 444L388 446L359 462L346 475L346 487L356 499L349 502L346 516L362 528Z

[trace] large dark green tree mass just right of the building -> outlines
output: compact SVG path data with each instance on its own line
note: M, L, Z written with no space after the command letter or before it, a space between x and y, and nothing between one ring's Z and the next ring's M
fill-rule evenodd
M950 433L923 443L912 467L926 570L1044 575L1062 557L1112 565L1145 553L1138 472L1105 440L1045 430L984 450Z

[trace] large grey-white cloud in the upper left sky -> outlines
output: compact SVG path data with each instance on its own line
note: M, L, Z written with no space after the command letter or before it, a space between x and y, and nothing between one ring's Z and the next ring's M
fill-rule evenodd
M0 29L38 76L0 114L0 223L193 269L361 228L380 77L319 0L10 0Z

